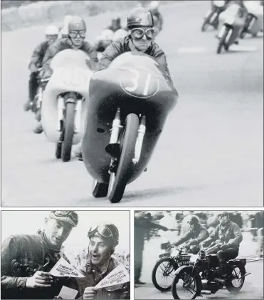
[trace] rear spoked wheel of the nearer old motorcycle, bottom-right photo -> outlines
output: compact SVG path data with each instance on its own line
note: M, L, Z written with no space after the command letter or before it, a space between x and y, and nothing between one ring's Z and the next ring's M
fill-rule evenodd
M245 268L236 264L231 266L231 277L226 280L226 289L231 294L236 294L242 289L245 281Z

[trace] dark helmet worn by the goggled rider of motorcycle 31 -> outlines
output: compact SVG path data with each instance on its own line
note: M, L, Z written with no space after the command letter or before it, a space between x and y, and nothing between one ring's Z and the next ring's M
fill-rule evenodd
M127 28L133 29L141 26L154 26L152 14L144 8L132 9L127 16Z

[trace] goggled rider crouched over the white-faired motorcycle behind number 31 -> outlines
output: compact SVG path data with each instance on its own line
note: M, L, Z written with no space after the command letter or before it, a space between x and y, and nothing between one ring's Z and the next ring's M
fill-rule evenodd
M76 48L88 53L90 56L90 62L95 69L98 58L97 52L91 43L85 41L86 36L86 24L80 16L73 16L68 24L68 38L60 38L53 43L43 58L43 79L50 78L52 70L50 68L51 60L60 51L70 48ZM41 121L38 123L36 133L42 133L43 128Z

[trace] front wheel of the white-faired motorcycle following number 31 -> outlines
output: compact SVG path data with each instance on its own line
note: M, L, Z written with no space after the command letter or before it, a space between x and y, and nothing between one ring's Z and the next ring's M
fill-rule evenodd
M74 120L75 103L68 102L65 107L65 118L63 123L64 138L61 150L61 159L63 162L68 162L70 160L71 148L73 145Z

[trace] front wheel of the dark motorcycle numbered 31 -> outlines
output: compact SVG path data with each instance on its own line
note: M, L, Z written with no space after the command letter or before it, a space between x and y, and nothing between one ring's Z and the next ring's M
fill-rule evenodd
M127 185L127 175L132 168L134 148L139 130L139 118L134 113L127 115L125 129L120 143L120 159L116 172L111 172L108 197L112 203L120 202Z

